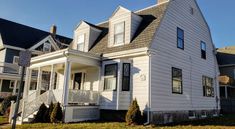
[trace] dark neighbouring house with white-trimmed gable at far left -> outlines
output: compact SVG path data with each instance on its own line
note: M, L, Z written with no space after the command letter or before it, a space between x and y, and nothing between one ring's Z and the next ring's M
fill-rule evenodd
M0 98L17 93L21 75L20 51L30 50L34 57L65 48L71 41L57 35L56 26L46 32L0 18Z

